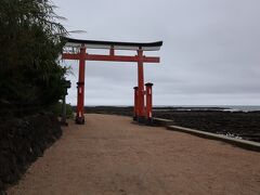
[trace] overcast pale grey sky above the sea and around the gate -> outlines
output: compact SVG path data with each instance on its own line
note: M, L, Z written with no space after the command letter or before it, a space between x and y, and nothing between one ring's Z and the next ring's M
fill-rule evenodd
M87 31L74 38L162 40L161 51L148 53L161 63L144 65L156 105L260 105L259 0L53 2L68 30ZM73 67L68 102L76 104L78 63L63 65ZM134 63L87 62L86 105L132 105L136 76Z

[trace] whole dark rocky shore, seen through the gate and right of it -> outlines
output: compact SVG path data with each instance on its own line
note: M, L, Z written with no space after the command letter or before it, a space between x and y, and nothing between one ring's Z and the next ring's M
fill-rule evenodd
M174 126L200 131L239 136L244 140L260 142L260 112L223 112L223 107L154 107L153 116L171 119ZM187 107L185 107L187 109ZM132 107L92 106L87 113L132 116Z

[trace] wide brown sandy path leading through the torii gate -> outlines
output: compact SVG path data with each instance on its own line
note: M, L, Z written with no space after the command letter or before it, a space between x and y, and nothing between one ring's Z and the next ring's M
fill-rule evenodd
M8 194L260 194L260 153L87 115Z

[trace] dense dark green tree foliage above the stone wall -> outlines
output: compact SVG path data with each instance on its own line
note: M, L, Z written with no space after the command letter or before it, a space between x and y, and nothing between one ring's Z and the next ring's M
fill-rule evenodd
M0 114L26 114L66 92L58 64L66 34L49 0L0 1Z

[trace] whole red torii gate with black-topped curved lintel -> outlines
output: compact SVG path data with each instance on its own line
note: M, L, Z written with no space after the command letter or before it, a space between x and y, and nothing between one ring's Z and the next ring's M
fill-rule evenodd
M62 54L63 60L79 61L79 79L78 79L78 101L77 101L77 123L84 123L84 66L86 61L110 61L110 62L136 62L138 63L138 87L134 88L134 116L139 122L152 121L152 83L146 83L144 91L143 63L159 63L157 56L145 56L143 51L158 51L162 41L138 43L138 42L113 42L79 40L64 38L66 44ZM107 49L108 55L89 54L87 49ZM135 50L138 55L116 55L115 50ZM144 95L146 94L146 108L144 106Z

